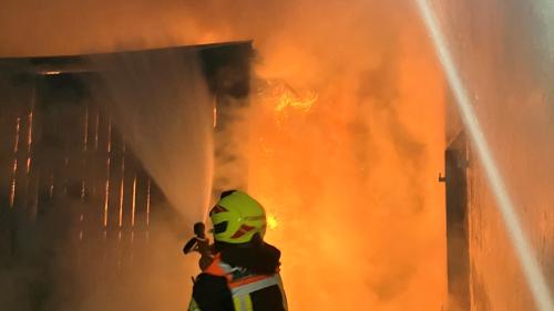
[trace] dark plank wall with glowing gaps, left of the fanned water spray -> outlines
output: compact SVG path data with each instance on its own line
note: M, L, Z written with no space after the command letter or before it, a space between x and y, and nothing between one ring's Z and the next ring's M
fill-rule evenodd
M44 226L64 227L82 245L105 241L104 263L132 260L148 240L151 214L164 198L106 113L86 74L0 79L0 253L24 252ZM154 199L153 199L154 198ZM53 224L53 225L52 225ZM99 260L96 260L99 261ZM113 266L113 265L110 266Z

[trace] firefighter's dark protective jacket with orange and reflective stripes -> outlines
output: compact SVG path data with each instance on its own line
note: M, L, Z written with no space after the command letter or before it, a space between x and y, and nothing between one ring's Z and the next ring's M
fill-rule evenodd
M280 251L268 245L227 246L194 283L189 311L286 311Z

